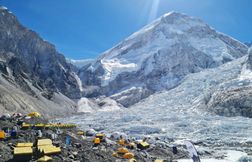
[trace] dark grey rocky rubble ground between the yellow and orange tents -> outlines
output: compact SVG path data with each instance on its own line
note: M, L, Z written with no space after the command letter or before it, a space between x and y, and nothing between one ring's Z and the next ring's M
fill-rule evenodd
M38 132L37 129L25 129L22 130L18 123L20 121L29 124L47 124L48 121L43 118L32 118L32 119L16 119L16 118L1 118L0 119L0 129L2 128L12 128L13 126L18 127L17 137L12 138L8 137L4 140L0 141L0 161L9 161L14 162L13 159L13 148L16 146L17 143L22 142L31 142L35 143L36 139L38 139L36 133ZM42 137L40 139L51 138L51 134L55 133L55 129L42 129ZM87 133L87 136L77 135L78 129L77 128L68 128L68 129L61 129L61 133L58 133L58 137L53 139L53 144L57 145L61 148L61 153L56 155L51 155L53 158L53 162L127 162L128 159L123 158L116 158L112 156L112 153L115 152L118 148L121 148L117 142L118 139L116 138L106 138L106 142L101 143L98 146L94 146L93 139L94 135ZM87 131L88 132L88 131ZM92 131L96 132L96 131ZM49 136L48 136L49 135ZM71 144L66 145L66 137L69 136L71 139ZM34 149L35 150L35 149ZM178 147L178 153L173 154L171 146L168 144L157 143L152 144L150 148L145 150L140 150L137 148L129 149L131 152L134 153L135 159L137 162L150 162L154 161L157 158L163 159L170 162L172 159L179 159L179 158L186 158L188 155L185 151L185 148L182 146ZM31 162L37 161L40 156L36 156L34 154L32 159L29 160ZM174 160L175 161L175 160Z

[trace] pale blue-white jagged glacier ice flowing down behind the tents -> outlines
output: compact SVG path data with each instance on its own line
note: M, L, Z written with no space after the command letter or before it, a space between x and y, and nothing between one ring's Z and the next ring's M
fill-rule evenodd
M68 122L77 123L84 130L91 127L106 134L121 132L139 139L172 139L173 143L190 139L217 152L244 151L250 148L252 141L252 119L219 116L208 111L206 104L212 92L223 85L230 86L225 83L243 79L241 73L246 60L247 56L189 74L177 87L157 92L129 108L84 113L71 117ZM252 82L247 78L243 81L248 85Z

